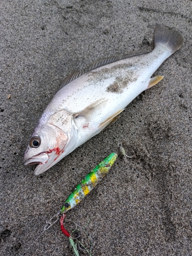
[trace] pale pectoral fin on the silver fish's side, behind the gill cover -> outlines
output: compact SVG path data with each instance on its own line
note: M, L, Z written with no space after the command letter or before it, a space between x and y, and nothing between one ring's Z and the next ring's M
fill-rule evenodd
M87 108L85 108L82 112L75 114L74 117L75 118L84 117L87 121L89 121L95 108L97 108L98 106L100 106L100 107L105 106L107 101L108 101L108 99L105 99L105 98L99 99L99 100L93 102L92 104L88 105Z

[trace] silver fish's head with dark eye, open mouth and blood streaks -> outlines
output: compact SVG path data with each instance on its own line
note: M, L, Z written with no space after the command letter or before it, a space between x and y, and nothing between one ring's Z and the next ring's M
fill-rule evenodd
M34 175L44 173L62 158L67 141L67 133L56 125L44 123L37 126L26 150L24 165L38 164Z

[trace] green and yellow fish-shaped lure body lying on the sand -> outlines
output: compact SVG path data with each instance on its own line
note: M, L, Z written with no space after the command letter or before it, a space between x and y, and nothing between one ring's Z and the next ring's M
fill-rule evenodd
M111 166L117 159L116 153L111 153L101 163L99 163L86 177L81 181L79 185L70 194L67 200L64 202L61 208L61 214L65 213L69 209L74 208L79 204L86 195L103 179L103 177L109 172Z

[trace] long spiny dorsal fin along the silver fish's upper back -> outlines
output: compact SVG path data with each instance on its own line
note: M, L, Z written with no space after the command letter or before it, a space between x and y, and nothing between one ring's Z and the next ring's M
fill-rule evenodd
M107 64L113 63L115 61L121 60L121 59L127 59L127 58L131 58L131 57L135 57L135 56L139 56L142 54L146 54L149 53L151 51L149 50L144 50L144 51L133 51L133 52L129 52L126 55L124 55L123 57L109 57L109 58L104 58L104 59L100 59L97 61L94 61L87 69L87 71L85 72L80 72L80 71L75 71L73 73L71 73L69 76L67 76L63 82L61 83L60 87L58 88L57 92L63 88L64 86L66 86L66 84L68 84L69 82L75 80L76 78L82 76L83 74L87 73L88 71L91 71L93 69L97 69L100 68L102 66L105 66ZM57 93L56 92L56 93Z

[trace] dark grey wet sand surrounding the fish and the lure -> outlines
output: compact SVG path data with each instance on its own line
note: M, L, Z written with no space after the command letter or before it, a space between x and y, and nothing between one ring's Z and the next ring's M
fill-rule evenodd
M93 256L192 255L192 2L1 0L0 13L0 254L22 255L74 187L122 142L135 157L128 164L118 158L67 218L88 223ZM155 72L163 80L35 177L23 154L61 81L99 58L153 49L156 23L178 28L185 38ZM25 255L73 252L57 223Z

